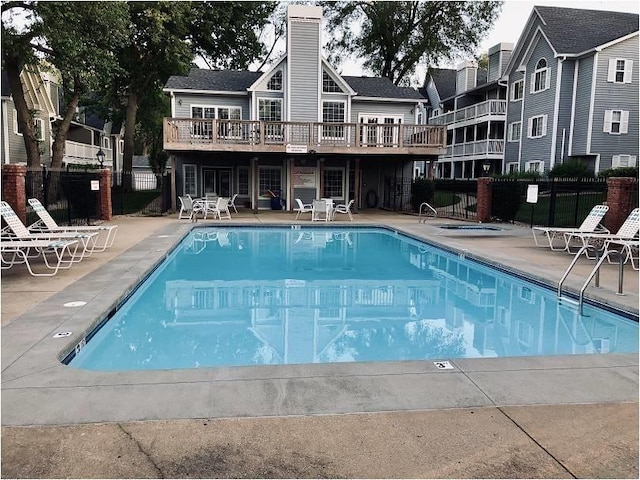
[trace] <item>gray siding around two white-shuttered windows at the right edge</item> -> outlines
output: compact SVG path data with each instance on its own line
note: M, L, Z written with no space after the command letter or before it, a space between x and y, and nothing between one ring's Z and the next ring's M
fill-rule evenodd
M600 168L611 166L612 155L638 155L638 36L627 39L598 54L596 87L593 108L593 128L591 133L591 153L600 154ZM607 81L610 58L624 58L633 61L631 83ZM628 133L612 135L604 133L605 110L625 110L629 112Z

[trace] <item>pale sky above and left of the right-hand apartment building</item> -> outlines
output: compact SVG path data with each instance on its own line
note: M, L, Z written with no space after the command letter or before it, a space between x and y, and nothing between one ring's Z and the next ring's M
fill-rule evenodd
M498 20L494 23L493 28L489 31L485 40L478 47L477 53L487 53L489 48L501 42L513 43L515 45L535 5L631 13L639 13L640 10L640 2L635 0L505 0ZM455 68L455 64L439 66L443 68ZM340 70L343 75L366 75L366 73L362 72L358 62L355 61L345 62ZM424 78L422 72L420 72L419 76Z

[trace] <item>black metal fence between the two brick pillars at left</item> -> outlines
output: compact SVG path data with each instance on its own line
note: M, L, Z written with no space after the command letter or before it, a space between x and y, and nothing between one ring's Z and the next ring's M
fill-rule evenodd
M90 225L99 218L99 174L95 170L30 168L26 198L37 198L60 225ZM27 224L38 220L27 204Z

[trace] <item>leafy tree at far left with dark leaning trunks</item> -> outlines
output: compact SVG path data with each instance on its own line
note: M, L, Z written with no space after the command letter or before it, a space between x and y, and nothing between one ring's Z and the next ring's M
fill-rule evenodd
M117 66L112 51L126 39L126 11L123 2L2 4L2 62L23 132L28 166L40 166L40 152L33 112L29 111L20 81L22 70L40 64L51 66L60 76L65 110L62 120L54 124L51 159L51 166L59 167L80 98L108 79ZM25 27L19 26L18 18Z

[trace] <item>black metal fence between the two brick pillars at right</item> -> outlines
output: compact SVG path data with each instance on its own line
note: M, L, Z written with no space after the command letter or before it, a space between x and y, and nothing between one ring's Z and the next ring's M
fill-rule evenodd
M537 186L537 195L530 186ZM527 202L527 193L532 195ZM533 200L536 200L533 202ZM504 222L574 227L594 205L607 200L607 181L601 178L544 181L494 179L491 216Z

